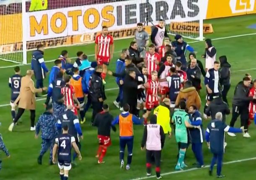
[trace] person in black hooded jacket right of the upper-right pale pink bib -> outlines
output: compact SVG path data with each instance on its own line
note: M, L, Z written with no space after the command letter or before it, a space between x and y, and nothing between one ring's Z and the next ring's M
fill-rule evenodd
M227 103L227 92L230 89L230 63L227 62L227 56L220 56L220 78L219 84L221 86L221 95L224 102ZM228 103L227 103L228 105Z

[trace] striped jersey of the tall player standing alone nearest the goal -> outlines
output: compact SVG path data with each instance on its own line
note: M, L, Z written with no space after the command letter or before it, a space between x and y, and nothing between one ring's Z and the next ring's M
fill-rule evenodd
M110 45L114 43L114 39L111 35L103 36L102 34L97 35L95 44L99 45L99 51L97 56L110 57Z

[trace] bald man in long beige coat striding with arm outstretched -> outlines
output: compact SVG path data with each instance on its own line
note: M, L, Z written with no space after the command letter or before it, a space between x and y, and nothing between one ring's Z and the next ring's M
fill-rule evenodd
M47 88L43 87L41 89L36 89L34 86L34 81L31 79L33 76L33 71L28 70L26 72L26 76L21 78L21 89L20 94L16 101L14 101L14 106L18 104L18 113L13 120L13 123L10 124L8 130L12 131L14 125L18 122L18 119L22 116L25 109L30 110L30 120L31 120L31 127L30 130L35 130L35 117L36 117L36 97L35 93L39 93L42 91L46 91Z

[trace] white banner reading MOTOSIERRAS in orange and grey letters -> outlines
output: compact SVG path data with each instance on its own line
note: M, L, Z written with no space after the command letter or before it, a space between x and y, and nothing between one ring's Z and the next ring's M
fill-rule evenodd
M94 33L107 25L110 30L133 28L138 22L157 24L199 20L199 2L204 3L201 15L206 16L208 0L129 0L97 5L35 11L27 13L27 41Z

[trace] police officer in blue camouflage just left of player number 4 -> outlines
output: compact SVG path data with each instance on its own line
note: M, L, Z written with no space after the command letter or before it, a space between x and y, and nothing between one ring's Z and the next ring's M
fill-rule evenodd
M40 155L37 158L39 165L42 165L42 157L44 153L50 148L50 165L52 165L52 148L55 142L55 137L57 135L57 129L55 128L56 118L53 116L52 104L46 106L46 111L39 117L36 125L35 138L38 138L40 129L42 130L42 144Z

